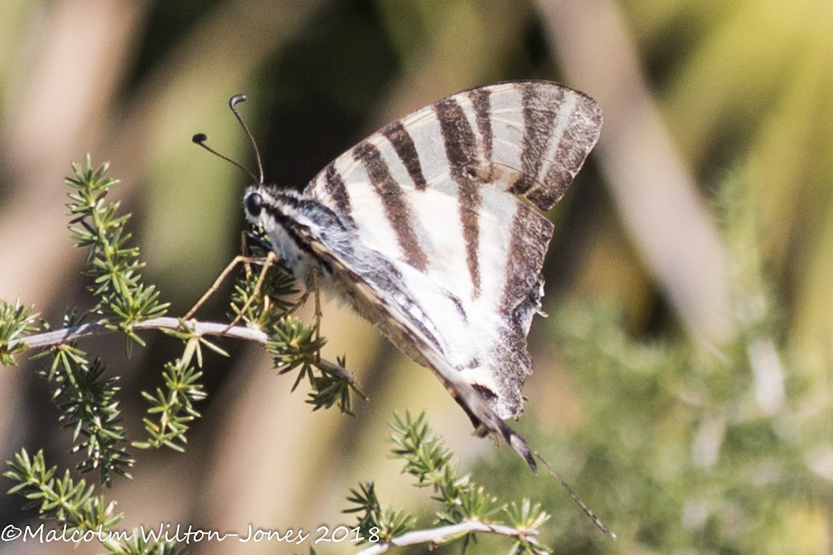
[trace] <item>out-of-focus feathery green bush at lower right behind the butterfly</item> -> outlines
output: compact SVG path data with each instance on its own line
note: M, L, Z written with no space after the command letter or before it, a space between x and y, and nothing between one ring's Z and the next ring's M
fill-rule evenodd
M562 306L552 325L561 357L593 394L569 445L537 441L566 451L556 467L578 467L573 485L594 493L591 507L619 533L618 548L753 553L783 523L776 507L811 494L810 445L784 434L798 415L786 406L776 414L761 409L742 344L719 355L646 344L630 338L621 312L604 303ZM604 542L586 546L576 515L550 501L561 553L616 551Z

